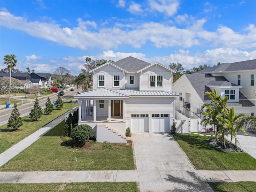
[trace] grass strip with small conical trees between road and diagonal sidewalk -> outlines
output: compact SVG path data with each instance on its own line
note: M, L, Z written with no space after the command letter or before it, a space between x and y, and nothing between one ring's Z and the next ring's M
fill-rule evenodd
M0 126L0 153L20 142L22 139L26 138L75 106L77 106L77 104L64 104L62 110L54 110L52 115L43 115L38 122L32 122L29 116L25 116L22 118L24 120L23 126L20 127L20 130L22 129L22 131L10 132L12 129L7 128L7 124Z

